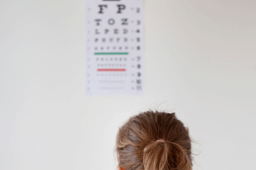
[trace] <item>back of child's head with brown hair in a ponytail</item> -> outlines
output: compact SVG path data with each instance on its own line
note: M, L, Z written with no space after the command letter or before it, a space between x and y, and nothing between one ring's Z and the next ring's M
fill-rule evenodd
M118 166L125 170L190 170L192 166L188 129L175 113L147 111L131 117L117 133L116 152Z

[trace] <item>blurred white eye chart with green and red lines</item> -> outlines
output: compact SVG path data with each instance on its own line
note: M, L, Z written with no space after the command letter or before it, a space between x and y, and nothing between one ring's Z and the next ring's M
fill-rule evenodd
M142 0L87 0L87 95L143 94L142 7Z

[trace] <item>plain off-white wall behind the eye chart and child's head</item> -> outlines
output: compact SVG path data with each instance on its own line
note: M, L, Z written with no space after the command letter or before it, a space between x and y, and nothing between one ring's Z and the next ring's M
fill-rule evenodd
M194 169L253 169L256 4L144 1L145 94L85 96L86 3L0 2L0 169L115 169L115 135L174 111Z

